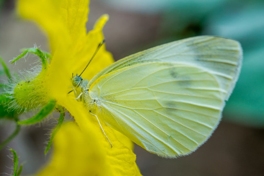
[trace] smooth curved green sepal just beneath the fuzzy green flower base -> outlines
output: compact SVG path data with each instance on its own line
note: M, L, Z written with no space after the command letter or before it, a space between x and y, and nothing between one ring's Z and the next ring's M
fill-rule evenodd
M36 115L33 117L18 121L19 125L31 125L40 122L43 118L45 118L48 114L50 114L56 106L56 100L51 99L47 105L45 105Z

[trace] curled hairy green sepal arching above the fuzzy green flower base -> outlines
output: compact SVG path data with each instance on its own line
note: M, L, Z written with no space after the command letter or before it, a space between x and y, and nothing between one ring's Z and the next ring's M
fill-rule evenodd
M39 48L26 48L23 49L24 52L22 52L22 54L20 54L17 58L15 58L11 64L13 64L14 62L18 61L20 58L24 57L26 55L26 53L33 53L36 54L37 56L39 56L41 58L41 62L42 62L42 69L45 69L48 66L48 60L47 58L50 57L50 55L46 52L42 52Z

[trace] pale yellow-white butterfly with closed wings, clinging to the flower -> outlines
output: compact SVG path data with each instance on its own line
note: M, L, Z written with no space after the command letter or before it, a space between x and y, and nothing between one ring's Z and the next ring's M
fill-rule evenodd
M125 57L90 81L72 76L72 83L93 115L147 151L174 158L216 129L242 55L237 41L198 36Z

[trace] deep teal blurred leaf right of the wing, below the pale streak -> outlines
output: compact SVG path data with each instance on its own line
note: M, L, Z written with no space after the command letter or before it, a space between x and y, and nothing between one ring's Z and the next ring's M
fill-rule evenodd
M226 103L226 119L264 127L264 44L244 53L244 64L236 88Z

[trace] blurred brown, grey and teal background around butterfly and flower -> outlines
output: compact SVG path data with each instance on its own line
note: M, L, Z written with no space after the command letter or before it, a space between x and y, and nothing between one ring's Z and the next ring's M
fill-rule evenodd
M0 56L12 72L19 72L35 62L8 63L21 48L36 44L48 51L48 46L40 29L18 18L14 7L14 0L0 0ZM104 13L110 15L104 27L106 48L115 60L197 35L232 38L244 49L240 78L211 138L193 154L177 159L164 159L135 146L142 175L264 176L264 1L91 0L88 30ZM23 175L34 174L49 161L43 151L52 121L22 128L8 144L20 155ZM0 141L14 128L12 121L0 118ZM7 148L0 151L0 176L11 173L8 154Z

